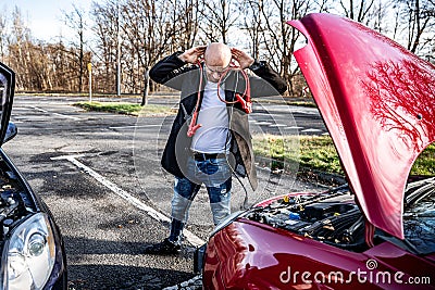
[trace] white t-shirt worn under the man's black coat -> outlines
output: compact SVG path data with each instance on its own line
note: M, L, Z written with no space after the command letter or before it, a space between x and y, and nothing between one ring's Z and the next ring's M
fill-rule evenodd
M220 89L221 98L225 92ZM201 153L224 153L229 150L228 112L226 103L217 97L217 83L207 81L197 124L202 126L195 133L191 149Z

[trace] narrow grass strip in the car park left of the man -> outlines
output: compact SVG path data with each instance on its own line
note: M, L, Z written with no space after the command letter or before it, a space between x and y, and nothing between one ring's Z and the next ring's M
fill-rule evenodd
M171 110L169 106L158 104L141 106L140 104L122 102L78 102L73 105L87 111L109 112L133 116L167 116L175 114L175 111Z

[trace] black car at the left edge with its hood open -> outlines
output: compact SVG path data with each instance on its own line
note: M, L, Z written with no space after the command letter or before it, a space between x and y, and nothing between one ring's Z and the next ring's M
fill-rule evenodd
M0 63L0 146L17 133L9 123L15 74ZM44 201L0 147L0 289L66 289L62 236Z

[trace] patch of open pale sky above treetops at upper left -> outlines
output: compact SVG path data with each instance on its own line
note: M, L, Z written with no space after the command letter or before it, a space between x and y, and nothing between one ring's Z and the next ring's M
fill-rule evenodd
M72 34L62 23L64 15L62 11L73 11L73 3L88 12L91 0L0 0L0 9L2 14L7 11L7 15L12 15L16 5L32 35L39 40L51 41L61 34L66 37Z

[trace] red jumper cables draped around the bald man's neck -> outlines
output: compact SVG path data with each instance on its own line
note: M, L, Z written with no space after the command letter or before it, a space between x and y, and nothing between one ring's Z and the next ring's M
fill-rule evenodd
M200 99L201 99L201 90L202 90L202 78L203 78L203 67L201 65L200 62L198 62L198 66L200 70L200 78L199 78L199 88L198 88L198 98L197 98L197 104L195 105L195 110L194 110L194 114L191 115L191 121L189 124L189 128L187 130L187 136L188 137L192 137L195 135L195 133L202 126L201 124L197 124L197 118L198 118L198 113L199 113L199 103L200 103ZM236 92L235 97L236 100L235 101L226 101L225 99L222 99L221 93L220 93L220 84L223 79L223 77L228 73L229 70L237 70L239 68L238 66L229 66L219 78L217 81L217 98L227 104L235 104L237 102L240 102L241 104L241 109L247 113L252 113L252 102L251 102L251 92L250 92L250 86L249 86L249 76L248 74L244 71L244 70L239 70L241 75L245 78L245 83L246 83L246 88L243 94ZM236 88L237 89L237 88ZM245 98L244 98L245 97Z

